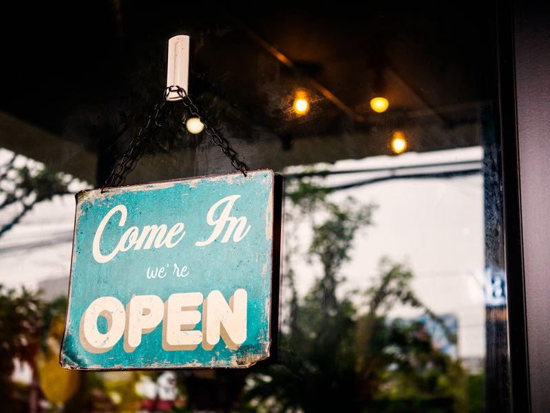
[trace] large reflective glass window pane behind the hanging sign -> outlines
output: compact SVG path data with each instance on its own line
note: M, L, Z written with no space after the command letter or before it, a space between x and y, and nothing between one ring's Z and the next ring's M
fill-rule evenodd
M14 411L509 411L494 19L473 2L113 1L38 6L32 33L6 25L3 399ZM63 370L74 193L138 145L176 34L191 38L187 92L203 120L249 169L285 178L273 357ZM209 129L188 129L196 114L169 105L125 184L233 171Z

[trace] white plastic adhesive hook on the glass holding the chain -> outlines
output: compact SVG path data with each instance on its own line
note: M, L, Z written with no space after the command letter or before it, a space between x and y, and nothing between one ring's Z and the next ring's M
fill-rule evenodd
M166 86L179 86L189 94L189 36L181 34L168 41L168 73ZM169 92L167 100L180 100L177 92Z

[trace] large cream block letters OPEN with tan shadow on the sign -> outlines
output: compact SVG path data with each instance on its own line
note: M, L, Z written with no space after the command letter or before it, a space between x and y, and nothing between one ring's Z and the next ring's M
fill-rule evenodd
M82 315L79 338L87 351L103 353L124 335L125 352L133 352L142 335L162 321L164 350L195 350L200 343L204 350L212 350L220 336L227 348L237 350L246 340L246 307L244 288L235 290L229 303L219 290L211 291L204 301L202 293L176 293L165 302L158 295L134 295L126 308L116 297L99 297ZM202 331L193 330L201 316ZM99 317L107 320L105 332L98 328Z

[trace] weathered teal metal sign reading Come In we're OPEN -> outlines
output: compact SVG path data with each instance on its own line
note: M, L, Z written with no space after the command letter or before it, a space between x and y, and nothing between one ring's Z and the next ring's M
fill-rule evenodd
M61 365L247 367L268 358L279 178L266 169L79 192Z

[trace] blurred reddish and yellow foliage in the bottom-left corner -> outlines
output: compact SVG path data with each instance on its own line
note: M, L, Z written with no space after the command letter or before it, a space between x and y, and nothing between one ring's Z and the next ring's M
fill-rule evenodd
M73 374L78 381L78 390L56 411L62 412L132 412L138 410L141 396L136 394L135 384L140 374L124 372L76 372L59 366L59 348L65 326L67 298L43 301L40 293L30 293L0 286L0 397L3 411L28 412L31 409L32 392L34 403L44 396L38 387L15 383L12 374L15 361L27 363L32 370L34 384L39 385L41 369L59 369L56 374ZM49 363L54 361L53 365ZM61 377L59 377L61 379ZM56 383L40 382L50 388ZM59 388L59 387L58 387ZM59 390L58 390L59 391ZM114 403L112 394L118 394Z

